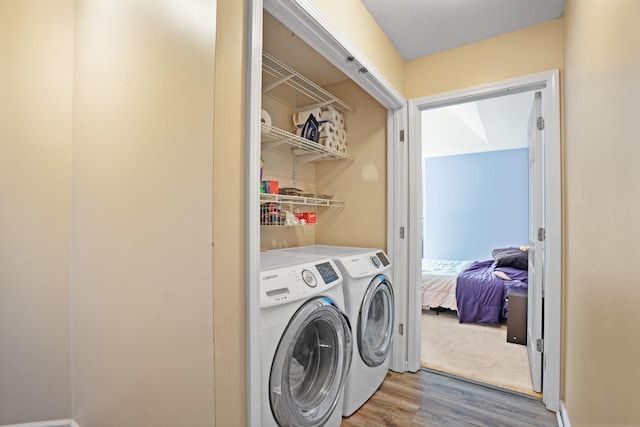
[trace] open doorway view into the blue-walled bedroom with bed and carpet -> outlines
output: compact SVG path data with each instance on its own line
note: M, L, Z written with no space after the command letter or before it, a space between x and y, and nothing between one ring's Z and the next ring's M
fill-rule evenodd
M527 292L528 129L534 94L421 112L420 362L540 396L531 380L526 333L507 336L517 317L526 325L526 310L512 310L509 325L507 318L509 290ZM524 263L496 268L494 253L502 249L520 251Z

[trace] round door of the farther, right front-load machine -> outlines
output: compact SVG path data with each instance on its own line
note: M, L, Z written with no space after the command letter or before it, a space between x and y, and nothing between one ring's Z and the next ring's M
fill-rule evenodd
M358 349L368 366L382 365L391 351L394 301L389 279L376 276L362 298L358 316Z

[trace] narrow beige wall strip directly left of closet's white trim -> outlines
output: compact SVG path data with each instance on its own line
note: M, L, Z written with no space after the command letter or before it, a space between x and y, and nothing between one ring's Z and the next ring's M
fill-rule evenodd
M218 0L213 168L216 426L246 424L245 6Z

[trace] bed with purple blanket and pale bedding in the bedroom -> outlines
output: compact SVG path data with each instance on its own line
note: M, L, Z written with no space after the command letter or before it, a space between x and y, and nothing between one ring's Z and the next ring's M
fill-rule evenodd
M509 290L527 292L527 256L504 248L484 261L423 259L422 308L455 310L460 323L499 323L508 317Z

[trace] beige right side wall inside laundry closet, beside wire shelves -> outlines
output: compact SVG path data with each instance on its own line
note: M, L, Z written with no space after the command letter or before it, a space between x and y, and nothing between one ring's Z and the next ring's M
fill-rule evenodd
M387 109L351 81L328 88L354 107L345 112L353 160L319 162L317 186L344 200L318 209L317 243L387 248Z

